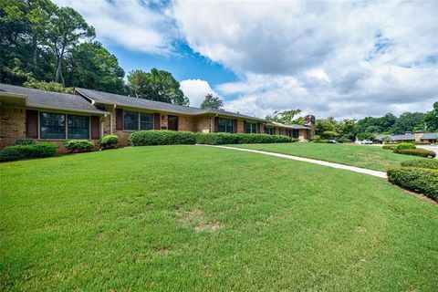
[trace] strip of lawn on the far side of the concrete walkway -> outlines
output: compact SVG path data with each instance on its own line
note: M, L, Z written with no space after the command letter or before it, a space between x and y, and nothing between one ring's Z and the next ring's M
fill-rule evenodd
M412 159L425 159L416 156L396 154L377 146L354 144L284 143L230 146L290 154L326 162L337 162L381 172L386 172L391 166L398 166L400 162Z

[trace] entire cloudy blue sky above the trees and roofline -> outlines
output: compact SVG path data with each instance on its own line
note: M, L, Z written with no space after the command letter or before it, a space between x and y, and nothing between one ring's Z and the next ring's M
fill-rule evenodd
M431 110L438 1L55 0L131 69L172 72L191 105L337 119Z

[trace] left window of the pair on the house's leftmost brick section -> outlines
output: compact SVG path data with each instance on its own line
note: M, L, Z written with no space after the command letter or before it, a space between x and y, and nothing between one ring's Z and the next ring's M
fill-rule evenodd
M66 115L59 113L40 113L41 139L66 139Z

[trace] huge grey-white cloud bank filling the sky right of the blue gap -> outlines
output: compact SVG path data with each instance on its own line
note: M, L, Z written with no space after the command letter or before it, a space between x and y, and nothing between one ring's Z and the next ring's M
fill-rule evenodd
M293 108L339 118L430 109L438 99L437 13L433 1L173 6L187 43L241 77L217 86L238 96L225 107L259 116Z

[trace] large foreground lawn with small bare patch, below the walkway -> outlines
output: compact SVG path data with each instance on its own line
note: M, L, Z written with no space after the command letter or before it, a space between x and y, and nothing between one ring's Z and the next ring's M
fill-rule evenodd
M0 164L2 290L436 291L438 208L203 146Z

